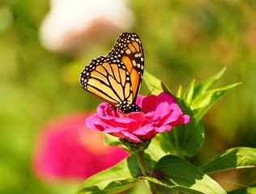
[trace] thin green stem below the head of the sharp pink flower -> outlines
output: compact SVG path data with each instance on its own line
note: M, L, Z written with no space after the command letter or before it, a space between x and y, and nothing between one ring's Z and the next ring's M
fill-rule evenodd
M149 169L147 168L147 162L146 162L144 150L134 151L134 154L136 155L136 158L139 162L139 167L143 173L143 176L150 176ZM155 184L151 183L148 180L146 180L146 183L147 183L147 187L149 188L151 194L156 194Z

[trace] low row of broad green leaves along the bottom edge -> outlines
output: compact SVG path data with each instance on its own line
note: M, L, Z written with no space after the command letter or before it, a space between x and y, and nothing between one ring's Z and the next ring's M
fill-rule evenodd
M234 148L219 154L202 167L194 167L190 162L174 155L160 158L152 171L152 177L141 176L134 156L127 158L106 171L87 179L79 188L82 193L116 193L130 188L147 179L156 185L186 193L226 193L214 179L205 172L225 171L241 167L256 167L256 149ZM255 187L241 188L228 193L253 193ZM168 190L164 190L166 193ZM250 192L249 192L250 191ZM161 192L159 192L161 193Z

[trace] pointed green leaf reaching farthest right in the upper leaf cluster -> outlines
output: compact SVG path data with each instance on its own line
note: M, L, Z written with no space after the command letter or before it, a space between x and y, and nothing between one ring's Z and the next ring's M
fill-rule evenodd
M206 91L202 95L198 95L196 99L190 104L191 109L194 112L194 118L196 124L199 120L202 120L205 113L211 108L211 106L218 100L220 97L225 95L228 91L232 90L235 86L241 83L234 83L228 86L220 87L215 90Z

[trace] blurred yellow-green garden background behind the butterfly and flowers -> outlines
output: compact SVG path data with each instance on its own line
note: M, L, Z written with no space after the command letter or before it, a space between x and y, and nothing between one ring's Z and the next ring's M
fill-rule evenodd
M224 66L228 71L219 86L243 82L207 113L198 164L234 146L256 147L256 1L132 0L128 6L135 15L130 32L143 41L146 70L174 92ZM80 88L79 74L92 58L108 53L116 38L77 55L49 52L38 38L48 11L48 1L0 2L0 193L72 193L79 186L37 179L33 145L48 120L100 103ZM144 83L140 93L149 93Z

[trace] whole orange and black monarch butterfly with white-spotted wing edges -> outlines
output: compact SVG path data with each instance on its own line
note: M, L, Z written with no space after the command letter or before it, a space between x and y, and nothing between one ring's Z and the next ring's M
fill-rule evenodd
M143 79L143 45L135 33L123 32L106 57L86 65L80 76L84 90L124 113L140 112L135 103Z

